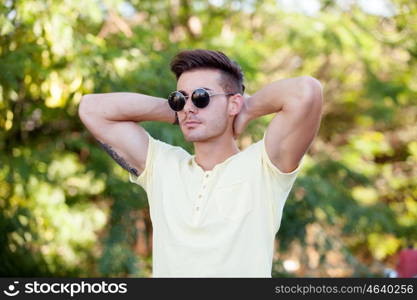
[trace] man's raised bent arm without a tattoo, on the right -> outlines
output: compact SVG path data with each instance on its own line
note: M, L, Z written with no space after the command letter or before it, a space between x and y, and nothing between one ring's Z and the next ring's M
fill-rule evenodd
M319 130L322 105L318 80L309 76L279 80L245 99L234 132L240 134L250 120L277 113L266 132L266 152L277 168L291 172Z

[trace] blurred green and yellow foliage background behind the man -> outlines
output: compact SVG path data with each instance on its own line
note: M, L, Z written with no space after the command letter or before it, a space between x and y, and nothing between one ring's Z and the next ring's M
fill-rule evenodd
M2 1L0 275L150 275L146 194L77 108L86 93L165 97L176 84L169 61L185 48L238 61L249 94L298 75L324 85L274 276L382 276L399 249L417 246L416 2L388 1L385 15L355 1L318 1L314 12L282 3ZM270 119L253 121L241 145ZM144 126L192 151L178 128Z

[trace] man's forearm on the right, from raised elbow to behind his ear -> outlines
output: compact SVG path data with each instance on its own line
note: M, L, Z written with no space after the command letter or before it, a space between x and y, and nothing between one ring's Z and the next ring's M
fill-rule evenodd
M321 89L320 83L308 76L272 82L253 94L247 103L247 114L251 120L279 112L286 107L303 105L312 100Z

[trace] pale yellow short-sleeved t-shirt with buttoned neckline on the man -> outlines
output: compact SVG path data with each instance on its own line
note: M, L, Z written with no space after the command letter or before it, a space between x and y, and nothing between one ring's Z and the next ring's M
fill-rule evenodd
M283 173L264 139L204 171L181 147L149 136L144 171L153 277L271 277L274 238L302 162Z

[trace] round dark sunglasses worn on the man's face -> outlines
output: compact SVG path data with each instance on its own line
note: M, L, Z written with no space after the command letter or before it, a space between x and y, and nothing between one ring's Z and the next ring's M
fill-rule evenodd
M193 93L191 94L191 100L193 101L193 103L196 107L204 108L209 104L210 97L220 96L220 95L230 96L230 95L235 95L235 94L237 94L237 93L209 94L209 92L206 89L198 88L198 89L194 90ZM181 91L172 92L168 96L169 106L174 111L180 111L184 108L185 101L189 97L190 96L185 96Z

